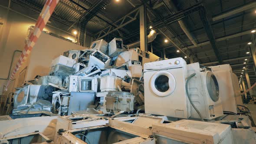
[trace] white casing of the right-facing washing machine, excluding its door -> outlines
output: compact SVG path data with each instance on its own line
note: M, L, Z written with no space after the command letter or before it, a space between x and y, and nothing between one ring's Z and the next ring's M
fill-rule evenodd
M200 111L202 118L211 120L213 118L218 118L223 115L221 98L218 101L213 101L210 98L207 89L207 74L213 74L210 71L202 72L198 62L187 65L188 76L196 73L196 75L190 79L188 83L188 92L190 94L191 100L196 108ZM200 118L197 111L191 105L191 117L190 118Z

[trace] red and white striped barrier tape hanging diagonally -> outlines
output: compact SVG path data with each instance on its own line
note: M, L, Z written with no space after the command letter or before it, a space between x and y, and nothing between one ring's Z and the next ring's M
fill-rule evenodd
M10 85L11 80L14 78L14 75L20 69L20 66L23 65L23 63L26 61L27 57L30 55L31 50L35 46L37 39L41 35L43 28L45 28L46 23L48 22L58 2L59 0L46 0L46 3L43 6L43 10L39 15L38 20L36 21L35 28L33 29L33 32L30 34L30 37L26 42L22 54L20 55L20 58L16 64L16 67L13 70L13 73L7 82L5 88L6 91L8 89L8 86Z

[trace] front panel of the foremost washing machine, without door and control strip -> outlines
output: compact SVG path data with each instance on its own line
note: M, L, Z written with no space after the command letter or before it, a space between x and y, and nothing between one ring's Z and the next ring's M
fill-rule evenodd
M151 88L151 78L157 72L167 71L174 76L176 85L174 91L167 96L156 95ZM148 114L165 115L175 118L189 118L190 105L185 91L185 78L187 69L167 69L158 71L148 71L144 73L144 97L145 111ZM173 82L172 82L173 83Z

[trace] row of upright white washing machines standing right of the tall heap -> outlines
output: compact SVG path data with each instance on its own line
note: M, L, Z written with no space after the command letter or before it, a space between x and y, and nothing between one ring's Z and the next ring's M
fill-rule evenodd
M174 118L214 120L237 114L243 105L230 65L207 67L182 58L144 65L145 113Z

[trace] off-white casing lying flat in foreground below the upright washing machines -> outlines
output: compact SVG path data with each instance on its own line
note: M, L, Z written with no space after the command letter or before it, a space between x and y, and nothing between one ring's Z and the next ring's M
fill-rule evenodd
M159 144L234 144L228 124L180 120L152 127Z

